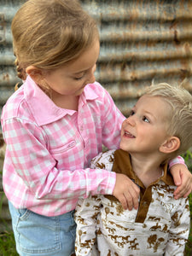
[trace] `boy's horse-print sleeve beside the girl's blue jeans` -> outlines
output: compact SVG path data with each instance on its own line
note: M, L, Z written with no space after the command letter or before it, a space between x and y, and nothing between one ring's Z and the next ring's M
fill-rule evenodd
M79 200L74 219L77 224L75 253L77 256L93 256L96 253L96 224L102 199L99 195Z

